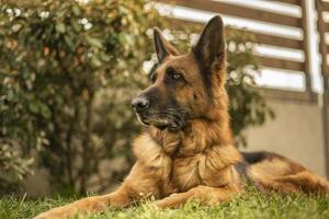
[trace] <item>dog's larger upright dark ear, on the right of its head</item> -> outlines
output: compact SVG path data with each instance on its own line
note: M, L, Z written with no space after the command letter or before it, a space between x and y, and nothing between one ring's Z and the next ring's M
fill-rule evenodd
M225 66L224 24L216 15L205 25L196 45L192 48L197 62L206 71L218 71Z

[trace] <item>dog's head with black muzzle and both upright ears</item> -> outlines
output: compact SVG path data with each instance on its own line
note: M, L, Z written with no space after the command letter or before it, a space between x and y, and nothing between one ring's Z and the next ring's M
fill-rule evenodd
M171 131L194 118L211 119L214 100L224 89L225 39L220 16L204 27L198 42L181 55L154 30L159 66L152 84L132 102L139 122Z

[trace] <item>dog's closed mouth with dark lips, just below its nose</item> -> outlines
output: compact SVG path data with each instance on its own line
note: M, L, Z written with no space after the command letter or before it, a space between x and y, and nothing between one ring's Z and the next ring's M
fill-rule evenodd
M180 114L151 113L151 114L139 114L137 118L144 126L155 126L160 130L169 129L177 131L184 126L184 117Z

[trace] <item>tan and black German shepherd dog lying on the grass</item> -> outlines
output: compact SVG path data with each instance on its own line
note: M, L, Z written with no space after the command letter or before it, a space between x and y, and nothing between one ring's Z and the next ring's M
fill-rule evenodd
M145 197L160 208L190 199L218 205L251 183L262 192L328 194L329 183L275 153L241 153L232 143L225 91L224 24L214 16L195 46L181 55L154 30L159 66L152 84L132 105L148 126L133 143L136 163L112 194L50 209L37 219L58 219L125 207Z

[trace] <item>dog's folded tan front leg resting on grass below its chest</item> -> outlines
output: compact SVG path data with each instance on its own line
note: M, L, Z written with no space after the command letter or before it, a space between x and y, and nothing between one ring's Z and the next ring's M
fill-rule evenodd
M167 198L156 201L160 208L174 208L185 204L188 200L197 200L205 205L217 205L222 201L228 200L239 191L230 187L208 187L196 186L185 193L175 193Z

